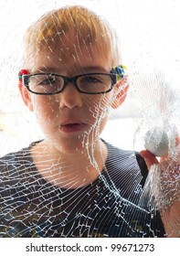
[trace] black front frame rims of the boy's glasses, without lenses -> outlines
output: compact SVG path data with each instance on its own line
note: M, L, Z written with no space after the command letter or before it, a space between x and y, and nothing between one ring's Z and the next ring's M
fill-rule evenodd
M36 76L36 75L54 75L54 76L58 76L60 78L62 78L64 80L64 86L62 87L62 89L60 91L56 91L56 92L36 92L36 91L31 91L30 88L29 88L29 85L28 85L28 81L29 81L29 78L30 77L33 77L33 76ZM82 76L86 76L86 75L105 75L105 76L109 76L111 77L111 88L108 90L108 91L98 91L98 92L85 92L85 91L81 91L79 90L79 87L77 85L77 80L79 79L79 77L82 77ZM64 91L64 89L68 86L69 82L72 82L76 89L81 92L81 93L84 93L84 94L104 94L104 93L108 93L110 92L114 85L117 83L117 74L114 74L114 73L87 73L87 74L80 74L78 76L75 76L75 77L66 77L66 76L62 76L62 75L58 75L58 74L54 74L54 73L35 73L35 74L23 74L22 75L22 80L23 80L23 84L26 86L26 89L34 94L37 94L37 95L55 95L55 94L58 94L62 91Z

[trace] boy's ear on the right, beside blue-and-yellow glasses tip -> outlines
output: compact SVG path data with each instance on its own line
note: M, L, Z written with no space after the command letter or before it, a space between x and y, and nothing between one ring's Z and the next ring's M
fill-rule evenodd
M118 81L114 87L115 99L111 103L112 109L117 109L125 101L127 91L129 89L129 80L125 76L122 80Z

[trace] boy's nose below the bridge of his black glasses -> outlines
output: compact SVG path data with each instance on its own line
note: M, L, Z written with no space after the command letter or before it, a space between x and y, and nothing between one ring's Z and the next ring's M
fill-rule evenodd
M72 82L69 82L68 86L59 94L59 107L62 108L81 108L82 99L80 92L76 89Z

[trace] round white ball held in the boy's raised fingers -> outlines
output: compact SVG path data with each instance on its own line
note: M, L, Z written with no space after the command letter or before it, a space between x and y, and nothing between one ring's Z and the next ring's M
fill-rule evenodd
M154 127L153 130L145 133L144 147L153 155L167 155L169 152L169 143L170 142L167 133L160 127Z

